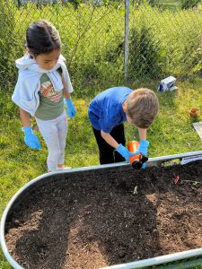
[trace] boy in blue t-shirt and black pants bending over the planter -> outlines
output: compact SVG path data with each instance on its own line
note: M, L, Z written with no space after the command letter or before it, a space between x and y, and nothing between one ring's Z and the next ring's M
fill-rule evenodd
M137 152L147 155L146 130L158 113L158 99L146 88L131 90L114 87L98 94L90 103L88 117L98 143L101 164L129 161ZM140 144L136 152L125 147L124 122L138 129Z

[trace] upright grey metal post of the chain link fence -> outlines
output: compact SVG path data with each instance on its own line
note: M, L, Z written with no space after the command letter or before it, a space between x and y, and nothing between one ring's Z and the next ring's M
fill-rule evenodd
M125 0L125 42L124 42L124 80L127 80L127 65L129 56L129 0Z

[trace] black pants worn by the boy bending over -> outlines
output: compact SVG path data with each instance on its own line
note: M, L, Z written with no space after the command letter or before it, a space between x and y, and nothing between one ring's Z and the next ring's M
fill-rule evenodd
M119 152L115 151L113 147L110 146L109 143L107 143L102 137L101 137L101 131L95 130L94 128L94 136L96 138L96 141L98 143L99 152L100 152L100 162L101 164L106 163L113 163L113 162L119 162L119 161L125 161L125 158L123 158ZM125 134L124 134L124 125L121 124L119 126L116 126L112 129L110 132L110 135L118 142L122 143L124 146L126 144Z

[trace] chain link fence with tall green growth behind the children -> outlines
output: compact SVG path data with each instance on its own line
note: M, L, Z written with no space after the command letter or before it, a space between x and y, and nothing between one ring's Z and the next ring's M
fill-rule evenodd
M16 82L31 22L60 33L74 87L186 77L202 73L202 4L198 0L0 0L0 80Z

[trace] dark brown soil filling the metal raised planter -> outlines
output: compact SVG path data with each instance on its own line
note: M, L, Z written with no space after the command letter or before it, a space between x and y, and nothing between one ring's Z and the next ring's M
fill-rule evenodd
M97 269L202 247L202 161L48 179L7 222L24 268Z

